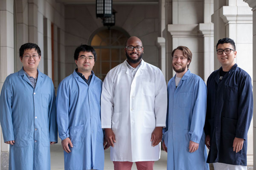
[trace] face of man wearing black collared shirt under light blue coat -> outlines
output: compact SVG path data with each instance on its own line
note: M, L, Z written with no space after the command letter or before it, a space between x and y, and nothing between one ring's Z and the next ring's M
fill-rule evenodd
M80 51L78 59L75 60L78 72L91 72L94 66L94 56L92 52Z

